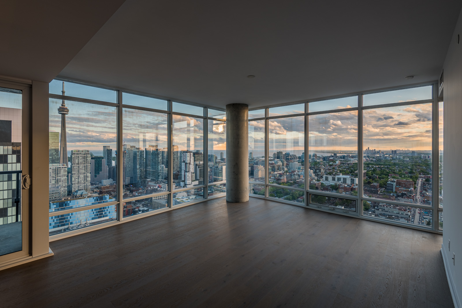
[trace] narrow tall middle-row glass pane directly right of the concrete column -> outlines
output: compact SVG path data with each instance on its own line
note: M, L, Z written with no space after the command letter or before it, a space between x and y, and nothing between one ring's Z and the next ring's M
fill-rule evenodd
M249 121L249 181L265 183L265 120Z

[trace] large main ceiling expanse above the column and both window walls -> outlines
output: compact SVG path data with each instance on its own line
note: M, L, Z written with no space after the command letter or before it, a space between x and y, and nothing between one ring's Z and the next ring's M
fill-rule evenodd
M60 76L250 108L428 82L439 77L461 5L127 0Z

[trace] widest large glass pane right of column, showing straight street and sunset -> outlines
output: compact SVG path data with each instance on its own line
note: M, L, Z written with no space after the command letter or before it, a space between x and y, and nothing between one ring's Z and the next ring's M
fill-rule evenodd
M364 195L432 205L432 104L363 115Z

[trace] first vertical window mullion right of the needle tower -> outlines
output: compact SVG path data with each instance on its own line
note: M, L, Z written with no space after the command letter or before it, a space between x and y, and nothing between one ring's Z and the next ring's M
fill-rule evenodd
M117 220L123 220L123 109L122 109L122 92L117 91L117 107L118 125L117 125L117 200L119 201L117 210Z

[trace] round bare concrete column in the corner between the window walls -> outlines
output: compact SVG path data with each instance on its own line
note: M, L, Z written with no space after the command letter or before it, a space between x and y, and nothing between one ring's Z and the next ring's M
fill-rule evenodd
M249 201L249 105L226 105L226 201Z

